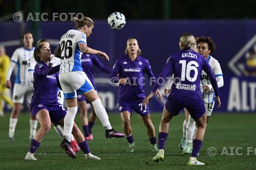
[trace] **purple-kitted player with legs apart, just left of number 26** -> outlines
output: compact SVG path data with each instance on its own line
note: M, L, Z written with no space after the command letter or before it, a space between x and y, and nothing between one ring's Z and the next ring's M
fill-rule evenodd
M38 149L46 133L50 130L51 122L55 125L63 126L63 120L67 113L62 105L58 103L57 92L58 87L60 87L58 81L59 65L55 67L49 66L49 61L51 59L49 44L41 44L37 46L34 50L34 57L37 64L34 69L34 95L32 96L31 101L31 113L35 116L41 127L35 133L35 136L31 141L30 151L25 157L26 160L36 160L34 153ZM79 143L79 147L87 159L100 160L99 157L90 153L88 143L84 140L84 137L76 124L73 126L72 134ZM65 149L70 157L76 158L70 145L61 145L61 148Z

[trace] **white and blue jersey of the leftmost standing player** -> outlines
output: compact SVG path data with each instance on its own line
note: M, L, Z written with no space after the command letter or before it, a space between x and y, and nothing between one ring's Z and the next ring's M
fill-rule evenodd
M11 62L16 63L18 67L15 83L32 86L28 76L28 60L34 55L34 49L35 47L32 47L30 50L20 47L14 51Z

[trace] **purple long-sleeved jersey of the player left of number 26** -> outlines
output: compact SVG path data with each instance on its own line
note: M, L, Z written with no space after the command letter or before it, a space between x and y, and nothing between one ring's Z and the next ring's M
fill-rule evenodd
M60 87L58 80L59 66L48 66L45 62L40 61L34 69L34 95L32 96L31 105L34 102L45 104L57 103L57 92ZM57 87L58 86L58 87Z

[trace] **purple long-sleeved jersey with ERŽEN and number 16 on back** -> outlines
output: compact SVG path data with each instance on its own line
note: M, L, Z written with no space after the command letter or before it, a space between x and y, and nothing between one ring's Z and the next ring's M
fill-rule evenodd
M173 70L174 83L170 92L179 96L201 99L200 74L202 69L210 77L212 87L214 88L216 96L218 96L219 90L216 77L208 64L208 61L205 57L193 50L183 49L179 53L170 56L167 59L159 78L161 77L165 79L168 72ZM159 84L161 83L162 79L159 79ZM157 90L159 84L156 83L154 85L152 89L153 92Z

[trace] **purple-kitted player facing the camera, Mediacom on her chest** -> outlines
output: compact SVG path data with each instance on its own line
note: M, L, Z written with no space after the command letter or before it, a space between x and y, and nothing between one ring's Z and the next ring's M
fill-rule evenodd
M129 142L127 152L133 152L135 147L130 125L133 109L142 116L148 136L150 136L152 150L157 152L155 127L151 122L148 106L142 106L145 98L143 74L146 72L149 78L155 77L150 63L139 56L141 51L138 41L135 38L129 38L127 40L125 53L126 55L124 57L117 59L110 80L112 83L119 82L118 104L123 123L123 131ZM119 75L119 79L117 75ZM162 95L160 92L158 90L156 92L159 98L161 98Z

